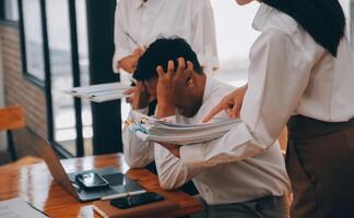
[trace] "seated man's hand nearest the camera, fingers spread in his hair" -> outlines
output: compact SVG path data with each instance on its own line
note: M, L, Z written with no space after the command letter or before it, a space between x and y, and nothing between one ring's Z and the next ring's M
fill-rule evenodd
M174 61L168 61L167 72L160 65L156 71L157 81L157 118L165 118L175 114L176 102L180 100L180 94L186 88L187 82L193 71L193 64L184 58L178 59L178 68L175 70Z

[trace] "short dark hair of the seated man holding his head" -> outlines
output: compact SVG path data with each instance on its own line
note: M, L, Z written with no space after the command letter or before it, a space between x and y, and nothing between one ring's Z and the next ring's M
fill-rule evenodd
M157 75L156 68L163 66L167 71L169 60L178 66L177 59L185 58L186 61L193 63L194 71L199 74L203 70L198 61L196 52L182 38L158 38L149 46L144 55L139 59L133 77L137 81L148 81Z

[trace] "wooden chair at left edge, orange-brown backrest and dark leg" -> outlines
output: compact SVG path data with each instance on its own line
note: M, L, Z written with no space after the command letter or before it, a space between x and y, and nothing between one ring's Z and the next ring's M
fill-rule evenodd
M17 159L14 146L13 130L23 129L25 126L24 111L21 106L13 106L0 109L0 131L7 131L9 152L12 160Z

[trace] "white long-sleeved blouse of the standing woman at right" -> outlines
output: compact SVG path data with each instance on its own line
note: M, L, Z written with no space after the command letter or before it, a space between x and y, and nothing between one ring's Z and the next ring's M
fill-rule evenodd
M253 28L261 35L250 51L243 122L208 146L182 146L186 165L213 166L258 155L272 146L293 114L328 122L354 117L354 62L347 38L334 58L292 17L263 3Z

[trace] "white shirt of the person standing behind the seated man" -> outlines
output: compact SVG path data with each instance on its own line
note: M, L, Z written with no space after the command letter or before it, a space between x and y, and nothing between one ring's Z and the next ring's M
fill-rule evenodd
M160 36L185 38L206 69L219 66L214 15L210 0L120 0L116 8L114 70L137 45L149 46Z

